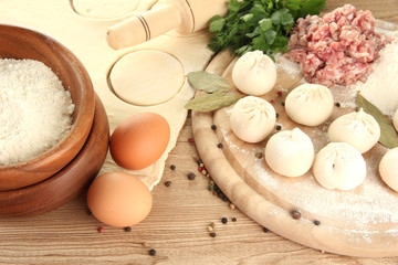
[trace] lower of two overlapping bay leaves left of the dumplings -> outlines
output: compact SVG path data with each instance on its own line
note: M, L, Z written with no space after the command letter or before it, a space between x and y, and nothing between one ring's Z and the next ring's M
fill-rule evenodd
M212 112L238 102L242 96L234 93L203 94L189 100L185 107L197 112Z

